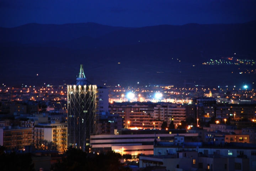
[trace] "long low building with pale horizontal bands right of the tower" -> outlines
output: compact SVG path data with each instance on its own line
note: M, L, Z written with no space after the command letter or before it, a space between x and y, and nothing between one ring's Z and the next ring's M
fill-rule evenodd
M115 135L91 135L92 152L114 150L117 153L131 154L133 158L137 158L138 154L153 155L156 142L172 142L180 145L184 141L196 141L198 136L197 133L186 133L185 129L115 131Z

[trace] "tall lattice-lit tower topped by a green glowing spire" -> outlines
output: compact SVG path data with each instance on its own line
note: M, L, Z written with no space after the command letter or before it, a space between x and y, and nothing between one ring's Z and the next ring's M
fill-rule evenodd
M89 85L83 65L74 85L68 85L68 147L86 149L95 133L96 85Z

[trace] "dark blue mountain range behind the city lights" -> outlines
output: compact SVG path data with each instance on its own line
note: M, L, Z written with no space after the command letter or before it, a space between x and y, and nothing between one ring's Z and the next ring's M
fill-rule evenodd
M141 28L97 23L0 28L0 79L10 86L69 84L80 64L90 82L121 84L253 84L255 66L205 66L222 57L256 60L256 20L240 24ZM233 72L233 74L231 74Z

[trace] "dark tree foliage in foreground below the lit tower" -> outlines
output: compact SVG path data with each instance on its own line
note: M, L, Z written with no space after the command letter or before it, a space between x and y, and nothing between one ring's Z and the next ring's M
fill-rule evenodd
M54 171L130 171L119 161L121 157L119 153L113 151L89 156L80 149L68 148L66 157L54 164L52 169Z

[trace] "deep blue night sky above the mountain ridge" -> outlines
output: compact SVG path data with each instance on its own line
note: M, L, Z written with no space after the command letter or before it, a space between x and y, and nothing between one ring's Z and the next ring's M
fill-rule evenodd
M0 0L0 27L81 22L143 27L255 19L256 0Z

